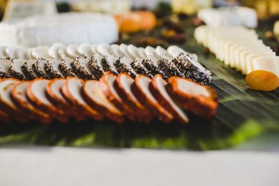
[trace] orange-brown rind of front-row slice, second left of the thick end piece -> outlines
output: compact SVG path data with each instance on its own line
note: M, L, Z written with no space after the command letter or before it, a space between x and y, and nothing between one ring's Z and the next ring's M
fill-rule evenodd
M140 78L146 78L146 76L138 75L135 78L135 83L132 85L132 92L142 104L149 108L153 115L157 116L160 121L163 123L169 123L172 121L174 116L170 114L167 110L165 110L158 102L154 102L150 100L148 96L142 90L142 86L140 86Z

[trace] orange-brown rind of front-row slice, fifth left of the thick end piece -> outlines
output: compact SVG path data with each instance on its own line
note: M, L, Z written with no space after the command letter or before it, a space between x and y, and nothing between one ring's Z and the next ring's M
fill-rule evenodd
M115 110L107 109L107 107L104 107L103 105L98 104L98 102L95 102L91 98L91 96L88 93L88 90L85 89L86 83L90 83L90 82L98 82L98 81L87 80L84 83L84 86L82 87L82 98L84 98L85 102L87 104L89 104L89 106L91 108L96 109L96 111L98 111L100 113L105 113L104 115L107 116L107 118L110 118L110 120L115 121L116 123L123 123L124 118L123 118L123 113L121 113L121 111L117 110L116 108L115 108Z

